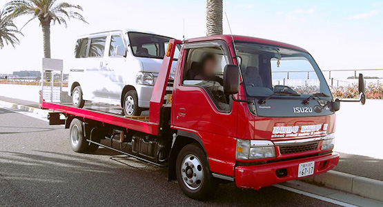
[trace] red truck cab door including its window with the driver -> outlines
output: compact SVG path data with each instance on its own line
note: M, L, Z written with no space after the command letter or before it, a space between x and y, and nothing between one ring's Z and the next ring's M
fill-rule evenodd
M210 170L233 175L237 103L222 87L224 67L232 64L227 45L224 41L186 43L182 57L173 93L173 127L202 140Z

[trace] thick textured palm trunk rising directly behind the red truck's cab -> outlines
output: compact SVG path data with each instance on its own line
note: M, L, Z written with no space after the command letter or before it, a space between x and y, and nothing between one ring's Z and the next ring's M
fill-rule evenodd
M207 0L206 2L206 35L222 34L223 0Z

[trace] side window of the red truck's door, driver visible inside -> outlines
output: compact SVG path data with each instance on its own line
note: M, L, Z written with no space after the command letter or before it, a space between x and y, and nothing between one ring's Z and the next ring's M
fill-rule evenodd
M218 110L230 111L224 94L224 67L228 64L221 48L193 48L188 51L184 70L184 86L202 87L212 97Z

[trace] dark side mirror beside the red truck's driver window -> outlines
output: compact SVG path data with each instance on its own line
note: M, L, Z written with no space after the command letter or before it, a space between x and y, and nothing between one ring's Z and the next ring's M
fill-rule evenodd
M224 92L233 95L239 92L239 67L226 65L224 68Z

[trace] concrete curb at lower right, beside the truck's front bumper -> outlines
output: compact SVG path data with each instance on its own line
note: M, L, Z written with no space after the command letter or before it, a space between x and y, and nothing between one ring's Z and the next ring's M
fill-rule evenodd
M328 172L306 177L301 180L383 201L383 181L380 180L360 177L335 170L328 170Z

